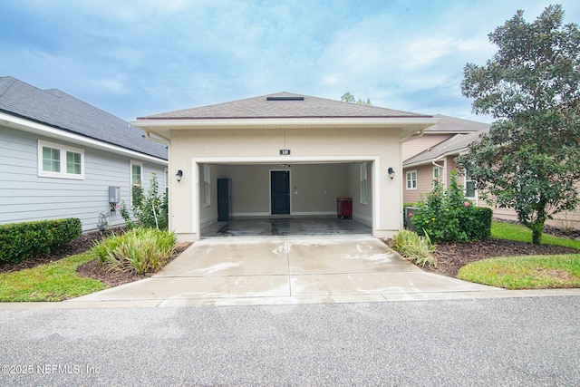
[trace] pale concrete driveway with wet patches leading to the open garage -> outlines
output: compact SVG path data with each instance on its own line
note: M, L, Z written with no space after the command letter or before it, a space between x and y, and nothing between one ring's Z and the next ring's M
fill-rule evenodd
M423 272L374 237L208 238L160 273L69 302L269 305L501 291Z

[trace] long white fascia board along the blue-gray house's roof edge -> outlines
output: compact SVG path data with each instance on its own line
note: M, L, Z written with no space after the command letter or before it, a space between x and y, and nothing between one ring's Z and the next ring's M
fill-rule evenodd
M20 117L15 117L13 115L6 114L4 112L0 112L0 124L3 124L9 128L18 129L20 131L28 131L34 134L42 134L43 136L50 137L51 139L66 140L74 144L88 146L94 149L106 150L124 156L139 158L141 160L148 160L156 164L168 165L167 160L146 155L136 150L128 150L126 148L122 148L118 145L112 145L104 141L93 140L80 134L72 133L69 131L63 131L62 129L56 129L53 128L52 126L45 125L43 123L26 120Z

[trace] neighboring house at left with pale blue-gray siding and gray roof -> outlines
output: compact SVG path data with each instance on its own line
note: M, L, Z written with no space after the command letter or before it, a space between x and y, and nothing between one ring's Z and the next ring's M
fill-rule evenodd
M106 111L0 77L0 224L80 218L89 231L100 212L122 224L109 187L129 203L131 187L147 188L155 172L163 189L167 155L166 145Z

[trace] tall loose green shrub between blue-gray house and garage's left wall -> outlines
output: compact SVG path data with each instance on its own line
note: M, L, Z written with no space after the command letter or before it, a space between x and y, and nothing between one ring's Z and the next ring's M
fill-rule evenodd
M159 193L155 172L152 175L149 191L145 192L140 187L133 187L131 190L131 213L143 227L167 229L169 225L167 193ZM131 220L131 213L124 201L121 203L120 212L128 228L137 226Z

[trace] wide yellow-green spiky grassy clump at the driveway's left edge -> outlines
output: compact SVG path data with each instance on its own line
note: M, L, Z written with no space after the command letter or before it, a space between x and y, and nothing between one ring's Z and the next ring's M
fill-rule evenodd
M89 254L98 259L107 271L145 275L165 266L175 245L174 233L136 227L123 235L104 239L92 247Z

